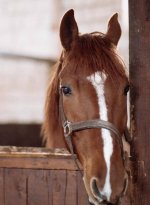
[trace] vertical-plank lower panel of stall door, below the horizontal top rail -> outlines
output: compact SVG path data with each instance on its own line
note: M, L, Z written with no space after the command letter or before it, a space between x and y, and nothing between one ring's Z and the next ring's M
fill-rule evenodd
M78 171L0 168L0 190L1 205L89 205Z

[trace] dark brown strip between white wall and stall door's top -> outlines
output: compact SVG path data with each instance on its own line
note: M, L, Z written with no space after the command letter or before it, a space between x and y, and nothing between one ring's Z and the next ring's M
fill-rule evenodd
M0 145L43 147L41 124L0 124Z

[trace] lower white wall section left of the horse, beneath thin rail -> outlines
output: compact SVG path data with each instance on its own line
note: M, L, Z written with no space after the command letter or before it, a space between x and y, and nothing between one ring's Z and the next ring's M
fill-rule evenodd
M50 63L0 56L0 122L41 123Z

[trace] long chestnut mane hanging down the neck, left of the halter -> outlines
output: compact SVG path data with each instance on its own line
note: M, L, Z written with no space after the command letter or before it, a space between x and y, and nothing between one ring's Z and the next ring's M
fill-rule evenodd
M61 62L58 61L56 65L53 67L50 83L47 89L47 96L45 101L45 118L44 123L42 125L42 136L43 143L50 147L55 147L54 143L49 141L51 139L52 130L54 132L62 132L60 128L60 120L59 120L59 72L61 70Z

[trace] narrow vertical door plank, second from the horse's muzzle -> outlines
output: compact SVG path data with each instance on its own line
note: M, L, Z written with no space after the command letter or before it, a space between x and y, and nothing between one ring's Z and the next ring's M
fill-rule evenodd
M77 172L67 171L65 205L77 205Z

